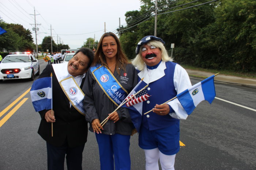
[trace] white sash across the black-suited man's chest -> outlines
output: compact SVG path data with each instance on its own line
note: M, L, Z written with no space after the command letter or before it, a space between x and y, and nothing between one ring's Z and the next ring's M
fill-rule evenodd
M83 108L84 93L76 83L72 75L68 73L68 63L52 64L60 87L67 96L69 102L81 114L85 115Z

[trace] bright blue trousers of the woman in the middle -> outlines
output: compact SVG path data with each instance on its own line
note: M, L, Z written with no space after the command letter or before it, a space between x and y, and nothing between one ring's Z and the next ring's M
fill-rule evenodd
M101 170L130 170L130 135L97 134ZM114 157L113 157L114 155Z

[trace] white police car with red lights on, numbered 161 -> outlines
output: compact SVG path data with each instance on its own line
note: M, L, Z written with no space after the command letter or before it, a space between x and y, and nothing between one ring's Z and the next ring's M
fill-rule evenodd
M0 81L34 80L40 74L38 60L30 52L10 52L0 63Z

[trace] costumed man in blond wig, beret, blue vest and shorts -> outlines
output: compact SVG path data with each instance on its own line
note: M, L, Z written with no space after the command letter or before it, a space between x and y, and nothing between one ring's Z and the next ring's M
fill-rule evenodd
M139 146L146 156L146 170L158 170L160 159L163 170L174 170L175 155L180 149L180 120L187 113L177 99L166 104L180 92L191 86L184 68L172 62L163 46L165 42L155 36L143 37L136 48L132 64L138 69L138 80L148 84L143 102L142 124L139 130ZM153 112L149 112L153 108Z

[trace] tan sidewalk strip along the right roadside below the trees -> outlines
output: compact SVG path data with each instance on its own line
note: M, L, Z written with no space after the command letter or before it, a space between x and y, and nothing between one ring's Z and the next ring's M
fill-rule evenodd
M188 72L189 76L201 77L201 78L210 77L211 75L216 74L216 72L213 73L213 72L205 72L205 71L191 70L191 69L186 69L186 71ZM237 85L256 88L256 79L230 76L230 75L221 74L221 72L217 76L215 76L214 80L216 82L225 82L230 84L237 84Z

